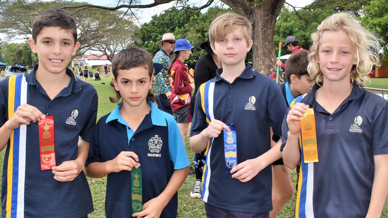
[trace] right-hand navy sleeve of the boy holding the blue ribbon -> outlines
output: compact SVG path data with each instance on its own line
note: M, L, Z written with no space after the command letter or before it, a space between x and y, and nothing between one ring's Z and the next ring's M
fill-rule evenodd
M274 84L276 85L276 84ZM284 101L284 97L280 88L276 85L276 89L267 101L267 113L270 119L270 126L274 131L274 135L281 136L282 134L282 123L284 114L287 111L287 104Z

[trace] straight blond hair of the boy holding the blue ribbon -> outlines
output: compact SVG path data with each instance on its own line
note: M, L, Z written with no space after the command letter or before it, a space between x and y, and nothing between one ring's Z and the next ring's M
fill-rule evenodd
M247 45L249 45L249 41L252 39L252 26L248 19L232 12L221 14L220 16L216 17L210 24L210 44L214 46L215 41L220 40L240 27L242 28Z

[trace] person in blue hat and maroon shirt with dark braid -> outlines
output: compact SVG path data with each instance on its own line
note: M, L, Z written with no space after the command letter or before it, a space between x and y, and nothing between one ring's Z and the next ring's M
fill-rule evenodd
M184 61L189 59L193 46L185 39L178 39L175 43L174 57L171 67L168 69L171 83L171 109L173 116L178 123L183 142L187 137L187 129L191 123L189 111L191 103L191 92L195 88L194 83L189 80L189 68Z

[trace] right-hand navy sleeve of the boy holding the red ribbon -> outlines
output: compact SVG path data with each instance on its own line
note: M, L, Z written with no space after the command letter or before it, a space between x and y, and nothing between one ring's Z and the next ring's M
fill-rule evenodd
M93 88L93 100L89 108L88 118L86 123L80 131L80 137L86 142L90 142L90 133L92 132L93 127L95 126L97 120L97 107L98 107L98 95L97 91Z

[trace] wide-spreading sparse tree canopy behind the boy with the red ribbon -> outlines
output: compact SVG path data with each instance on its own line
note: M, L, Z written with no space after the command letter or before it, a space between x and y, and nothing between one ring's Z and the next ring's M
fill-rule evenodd
M109 52L111 50L109 47L115 44L113 41L119 38L113 37L111 34L125 36L128 42L133 41L130 37L137 27L132 22L134 19L132 12L125 13L121 10L109 11L97 8L80 10L76 8L83 4L85 3L61 0L54 2L43 2L42 0L0 1L0 33L6 34L9 38L27 39L31 37L31 25L36 15L53 7L67 6L75 7L65 10L74 17L76 24L78 24L77 40L81 47L77 55L83 55L87 50ZM104 44L100 42L104 42Z

